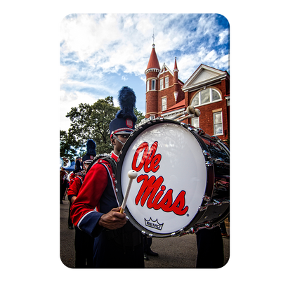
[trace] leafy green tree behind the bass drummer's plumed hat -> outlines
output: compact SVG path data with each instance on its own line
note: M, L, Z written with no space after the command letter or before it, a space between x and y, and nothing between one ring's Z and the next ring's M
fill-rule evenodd
M92 138L96 142L96 153L110 153L110 122L115 118L119 107L115 107L113 97L108 96L98 100L93 105L80 103L78 107L72 107L66 117L70 118L71 125L68 134L72 136L71 145L80 150L80 154L86 152L86 142ZM142 112L134 109L138 122L144 118Z

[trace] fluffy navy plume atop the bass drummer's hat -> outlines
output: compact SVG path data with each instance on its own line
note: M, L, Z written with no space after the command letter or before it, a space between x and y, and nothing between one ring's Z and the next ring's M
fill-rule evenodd
M133 107L136 106L136 94L133 89L129 88L128 86L122 87L119 91L119 105L121 110L117 112L117 118L130 118L133 122L136 122L136 115L133 113Z

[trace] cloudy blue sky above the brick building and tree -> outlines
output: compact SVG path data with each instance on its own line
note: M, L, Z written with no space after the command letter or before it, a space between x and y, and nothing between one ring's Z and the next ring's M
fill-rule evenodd
M70 127L71 107L136 93L145 113L145 70L155 35L159 65L185 83L201 63L232 74L231 22L220 12L69 12L58 22L58 129Z

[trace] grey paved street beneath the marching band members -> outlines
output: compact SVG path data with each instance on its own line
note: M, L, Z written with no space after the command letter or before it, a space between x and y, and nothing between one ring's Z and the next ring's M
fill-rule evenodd
M68 229L69 202L58 204L58 259L61 266L75 270L74 235L75 230ZM228 234L232 233L231 223L226 221ZM223 237L225 263L232 257L232 238ZM183 237L152 238L152 251L159 256L149 256L145 261L145 270L195 270L197 259L196 235Z

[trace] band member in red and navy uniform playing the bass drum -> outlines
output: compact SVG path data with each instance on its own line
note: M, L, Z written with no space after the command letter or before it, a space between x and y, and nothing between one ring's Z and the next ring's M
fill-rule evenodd
M133 114L136 104L133 90L124 86L119 91L118 98L121 110L110 123L110 141L114 148L111 155L114 161L111 162L117 161L137 119ZM87 171L84 183L72 204L72 221L79 229L95 237L95 268L144 269L143 237L126 220L126 214L120 213L114 168L106 159L98 159Z

